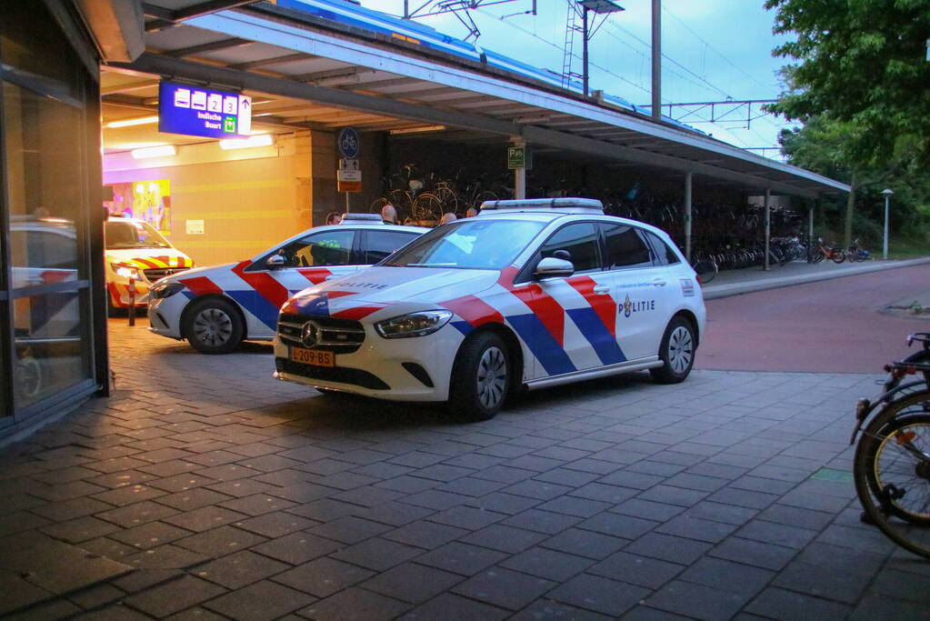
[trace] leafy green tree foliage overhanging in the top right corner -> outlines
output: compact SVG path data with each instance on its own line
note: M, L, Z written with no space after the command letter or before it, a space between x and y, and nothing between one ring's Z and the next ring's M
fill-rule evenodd
M879 166L903 145L930 163L930 0L765 0L775 33L795 41L773 53L788 91L769 106L790 120L817 116L856 127L850 161Z

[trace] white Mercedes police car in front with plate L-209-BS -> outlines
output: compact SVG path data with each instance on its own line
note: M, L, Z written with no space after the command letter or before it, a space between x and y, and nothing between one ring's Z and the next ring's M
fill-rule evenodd
M523 389L644 369L683 381L704 322L665 232L600 201L497 201L289 299L274 375L484 419Z

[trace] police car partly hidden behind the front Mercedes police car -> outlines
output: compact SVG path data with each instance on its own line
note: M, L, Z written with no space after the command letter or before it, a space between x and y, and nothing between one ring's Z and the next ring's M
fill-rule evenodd
M429 229L390 226L377 214L303 231L258 257L184 271L149 290L149 330L186 338L203 353L228 353L243 340L271 340L288 297L379 262Z

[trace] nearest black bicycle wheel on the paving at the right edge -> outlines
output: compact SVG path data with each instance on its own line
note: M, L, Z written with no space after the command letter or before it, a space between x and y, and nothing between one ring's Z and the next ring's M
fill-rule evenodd
M865 517L930 559L930 391L889 403L862 432L853 465Z

